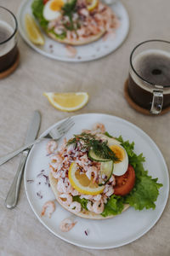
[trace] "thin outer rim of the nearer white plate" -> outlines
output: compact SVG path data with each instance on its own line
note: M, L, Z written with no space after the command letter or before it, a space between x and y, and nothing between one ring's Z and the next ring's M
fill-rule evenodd
M155 224L160 220L161 215L162 215L162 213L164 212L164 210L165 210L165 208L166 208L166 206L167 206L167 200L168 200L168 197L169 197L169 172L168 172L167 163L166 163L166 160L165 160L164 157L163 157L163 154L161 153L161 149L158 148L158 146L157 146L156 143L152 140L152 138L151 138L145 131L143 131L141 128L139 128L139 126L134 125L132 122L127 121L127 119L122 119L122 118L120 118L120 117L117 117L117 116L111 115L111 114L107 114L107 113L81 113L81 114L77 114L77 115L72 115L71 118L82 117L82 116L85 116L85 115L99 115L99 116L103 115L103 116L105 116L105 117L108 116L109 118L118 119L118 120L124 122L125 124L130 125L130 126L132 126L133 128L137 129L137 130L138 130L139 132L141 132L145 137L147 137L147 139L150 140L150 143L152 143L152 144L155 146L156 151L157 151L157 152L159 153L159 155L161 156L161 160L162 160L164 166L166 167L166 173L167 173L167 177L168 177L168 178L167 178L167 190L166 190L166 191L167 191L167 192L166 192L167 195L166 195L166 200L165 200L165 203L164 203L163 207L161 208L161 211L160 211L159 214L158 214L158 217L155 219L155 221L153 222L153 224L151 224L151 226L150 226L148 229L145 229L144 231L141 231L141 234L139 234L139 236L136 236L135 239L129 239L129 241L122 242L121 244L119 243L117 246L106 246L106 247L86 246L86 245L79 244L78 242L70 241L69 239L66 239L65 237L62 237L62 236L60 236L60 235L57 235L57 234L54 232L54 230L51 230L51 229L48 227L48 224L45 224L45 223L42 221L42 218L40 218L39 215L37 214L37 212L34 210L33 206L31 205L31 201L30 201L29 195L28 195L28 193L27 193L27 189L26 189L26 186L27 186L27 182L26 182L26 167L27 167L28 162L29 162L29 159L30 159L30 157L31 157L31 156L30 156L30 155L31 155L31 154L30 154L30 153L31 153L31 150L32 150L36 145L34 145L34 146L31 148L31 150L30 150L30 152L29 152L29 155L28 155L28 157L27 157L27 160L26 160L26 166L25 166L25 172L24 172L24 186L25 186L25 191L26 191L26 198L27 198L27 200L28 200L28 202L29 202L29 204L30 204L30 206L31 206L31 210L32 210L32 211L34 212L34 214L37 216L37 219L42 223L43 226L45 226L45 227L47 228L47 230L49 230L52 234L54 234L54 236L59 237L61 240L66 241L66 242L68 242L68 243L70 243L70 244L72 244L72 245L75 245L75 246L77 246L77 247L84 247L84 248L88 248L88 249L104 250L104 249L111 249L111 248L116 248L116 247L122 247L122 246L127 245L127 244L129 244L129 243L131 243L131 242L133 242L133 241L136 241L136 240L138 240L140 237L144 236L144 235L145 235L149 230L151 230L151 229L155 226ZM65 119L67 119L67 118L59 119L59 121L56 122L54 125L59 124L60 122L64 121ZM42 134L40 135L40 137L42 137L43 134L45 134L45 133L46 133L49 129L51 129L54 125L51 125L50 127L48 127L48 129L47 129L46 131L43 131Z

